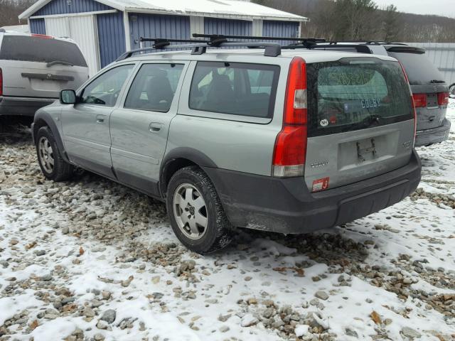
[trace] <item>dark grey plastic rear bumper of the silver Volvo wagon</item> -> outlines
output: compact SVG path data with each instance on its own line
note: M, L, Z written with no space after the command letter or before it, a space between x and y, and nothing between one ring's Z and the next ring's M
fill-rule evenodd
M414 151L402 168L320 193L310 193L303 178L204 170L232 225L301 234L352 222L400 202L419 185L421 163Z

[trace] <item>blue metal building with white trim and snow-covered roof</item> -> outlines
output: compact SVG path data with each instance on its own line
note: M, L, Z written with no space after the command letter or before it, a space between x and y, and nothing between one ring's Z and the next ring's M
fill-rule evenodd
M139 37L191 38L193 33L297 37L308 18L250 1L39 0L19 18L31 33L73 38L93 74Z

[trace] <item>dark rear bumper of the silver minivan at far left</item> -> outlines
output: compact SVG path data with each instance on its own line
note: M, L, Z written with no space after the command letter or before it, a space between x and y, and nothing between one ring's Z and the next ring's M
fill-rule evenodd
M53 104L55 98L0 97L1 115L35 116L36 110Z

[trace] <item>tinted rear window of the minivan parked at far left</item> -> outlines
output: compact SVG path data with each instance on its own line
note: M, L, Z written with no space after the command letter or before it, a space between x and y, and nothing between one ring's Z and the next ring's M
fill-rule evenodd
M68 41L32 36L4 36L0 48L0 60L28 62L63 62L87 67L77 45Z

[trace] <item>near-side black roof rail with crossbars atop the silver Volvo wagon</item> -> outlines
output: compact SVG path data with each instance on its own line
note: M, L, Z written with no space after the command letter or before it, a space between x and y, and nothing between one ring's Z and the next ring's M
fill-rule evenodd
M234 36L218 36L218 35L196 35L195 38L210 38L210 40L200 39L166 39L166 38L139 38L140 48L127 51L117 58L117 62L131 58L134 53L141 53L149 50L167 50L171 48L191 48L192 55L202 55L207 51L207 48L225 48L230 46L246 47L246 48L264 48L264 55L266 57L277 57L282 53L282 46L279 43L269 43L266 41L262 42L240 42L240 41L229 41L228 38ZM235 38L241 39L235 36ZM253 37L255 38L255 37ZM245 37L250 39L250 37ZM274 38L277 39L277 38ZM153 45L145 47L145 42L152 42ZM182 45L171 45L171 43L188 43Z

